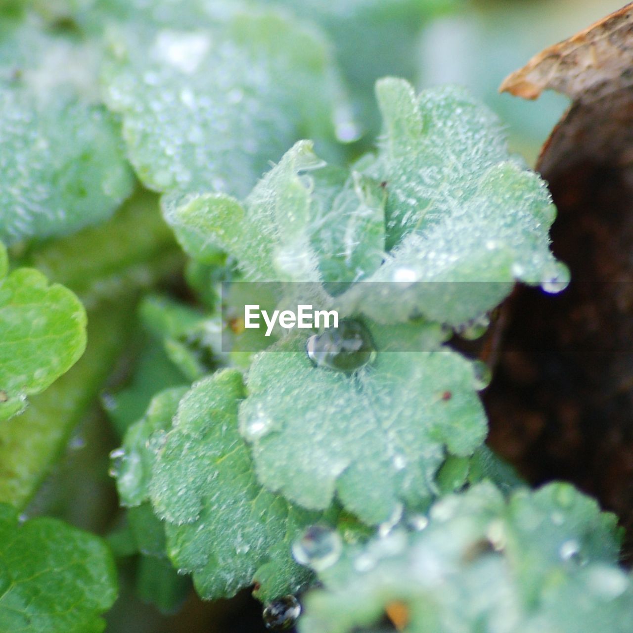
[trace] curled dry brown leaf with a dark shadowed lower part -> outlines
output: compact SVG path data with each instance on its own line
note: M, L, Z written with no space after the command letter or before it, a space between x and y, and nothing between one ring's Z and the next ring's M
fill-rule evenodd
M617 511L633 554L633 3L501 86L572 99L541 151L572 283L517 288L504 310L489 441L534 483L567 479Z

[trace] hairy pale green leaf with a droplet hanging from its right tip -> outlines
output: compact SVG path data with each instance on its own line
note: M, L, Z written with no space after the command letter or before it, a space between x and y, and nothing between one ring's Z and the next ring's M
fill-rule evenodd
M514 280L563 289L567 268L549 251L555 208L545 183L508 154L496 117L461 89L418 97L385 78L376 90L384 136L367 173L388 191L391 252L367 279L377 283L350 291L346 311L459 325L494 308Z

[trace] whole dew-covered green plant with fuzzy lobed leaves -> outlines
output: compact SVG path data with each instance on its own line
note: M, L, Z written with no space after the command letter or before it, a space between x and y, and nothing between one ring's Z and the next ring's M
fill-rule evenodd
M628 630L615 517L486 448L491 368L449 344L565 289L546 185L463 89L375 107L371 34L407 74L451 3L344 4L2 5L1 631L103 630L113 553L163 611L191 575L275 630ZM99 393L109 546L18 520Z

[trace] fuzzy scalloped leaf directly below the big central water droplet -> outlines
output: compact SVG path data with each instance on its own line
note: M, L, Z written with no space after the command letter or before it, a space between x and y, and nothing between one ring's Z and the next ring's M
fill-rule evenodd
M256 356L239 415L268 489L315 509L337 494L375 524L403 503L425 506L445 451L472 454L486 436L486 417L469 361L437 338L422 348L428 351L381 351L384 334L372 334L375 361L351 375L315 367L299 337Z

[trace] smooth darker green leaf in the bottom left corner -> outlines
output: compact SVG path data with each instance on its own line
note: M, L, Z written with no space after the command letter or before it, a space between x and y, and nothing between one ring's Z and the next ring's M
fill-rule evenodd
M98 633L116 598L116 571L101 539L53 518L20 524L0 504L0 629Z

